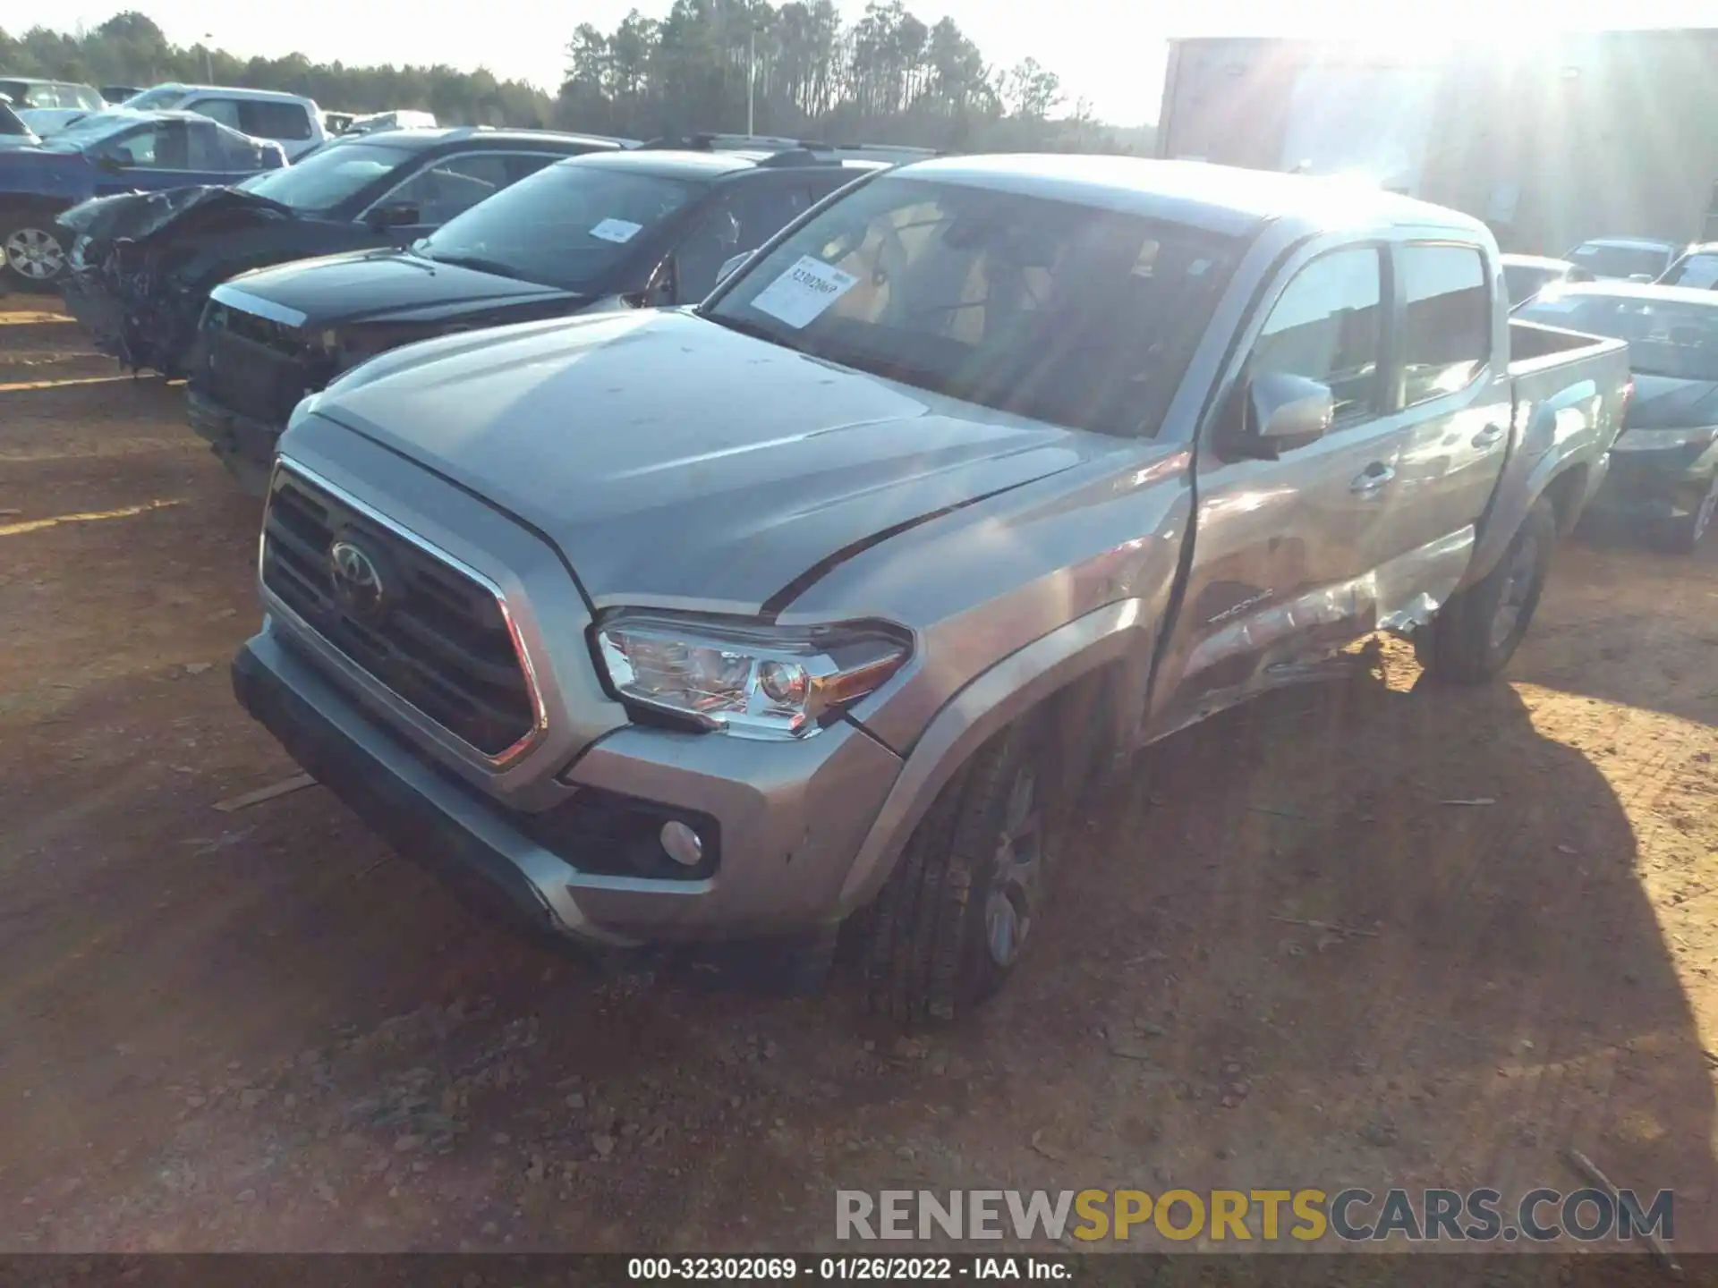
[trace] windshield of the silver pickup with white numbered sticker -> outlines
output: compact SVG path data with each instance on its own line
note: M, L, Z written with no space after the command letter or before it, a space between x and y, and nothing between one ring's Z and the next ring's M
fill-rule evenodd
M902 175L799 228L706 316L998 410L1151 434L1242 249L1184 223Z

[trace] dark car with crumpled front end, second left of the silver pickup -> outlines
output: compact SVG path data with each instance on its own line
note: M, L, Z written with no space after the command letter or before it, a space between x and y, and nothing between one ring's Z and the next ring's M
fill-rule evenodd
M551 161L615 149L546 131L393 131L223 187L127 192L60 216L60 282L94 347L180 376L213 287L309 256L404 246Z

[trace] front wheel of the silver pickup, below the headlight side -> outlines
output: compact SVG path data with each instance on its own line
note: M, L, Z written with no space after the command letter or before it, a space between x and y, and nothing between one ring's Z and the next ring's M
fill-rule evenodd
M868 908L864 993L904 1027L948 1022L995 994L1046 890L1051 776L1015 723L938 793Z

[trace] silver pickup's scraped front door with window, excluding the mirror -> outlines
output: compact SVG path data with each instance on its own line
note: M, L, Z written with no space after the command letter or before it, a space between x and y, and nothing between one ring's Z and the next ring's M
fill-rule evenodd
M1330 239L1278 273L1244 337L1237 378L1201 426L1194 558L1146 716L1154 738L1297 677L1373 629L1371 572L1404 443L1388 416L1390 261ZM1328 385L1335 424L1276 460L1223 450L1247 381L1278 371Z

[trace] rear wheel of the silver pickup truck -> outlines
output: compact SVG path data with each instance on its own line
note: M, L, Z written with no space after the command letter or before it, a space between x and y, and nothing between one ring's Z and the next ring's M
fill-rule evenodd
M1431 625L1414 632L1414 653L1431 678L1484 683L1508 666L1539 606L1555 548L1557 510L1541 498L1498 565L1450 596Z

